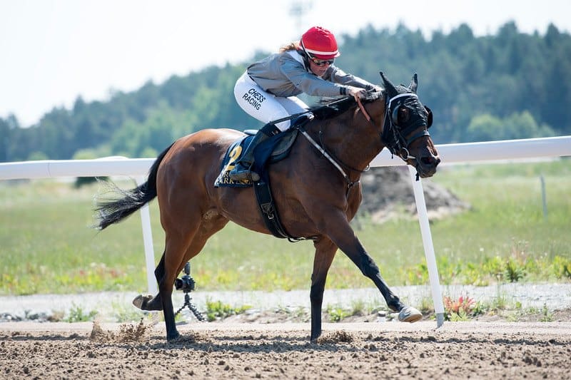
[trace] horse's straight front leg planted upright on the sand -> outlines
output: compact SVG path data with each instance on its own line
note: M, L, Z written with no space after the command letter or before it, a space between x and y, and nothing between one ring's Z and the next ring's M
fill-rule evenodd
M315 240L315 257L313 257L313 273L311 274L311 342L317 342L321 335L321 307L327 273L335 257L337 246L326 237Z

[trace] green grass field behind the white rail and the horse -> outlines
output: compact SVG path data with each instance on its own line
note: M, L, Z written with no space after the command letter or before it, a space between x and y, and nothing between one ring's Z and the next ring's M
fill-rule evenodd
M431 221L443 284L570 281L571 160L445 167L430 181L472 205ZM141 220L133 215L101 232L91 229L97 192L98 185L76 190L54 180L0 182L0 294L146 290ZM156 201L151 220L158 261L164 234ZM361 224L356 233L388 284L428 284L418 221L374 225L364 218ZM308 289L313 244L229 223L191 264L201 290ZM327 286L373 284L338 252Z

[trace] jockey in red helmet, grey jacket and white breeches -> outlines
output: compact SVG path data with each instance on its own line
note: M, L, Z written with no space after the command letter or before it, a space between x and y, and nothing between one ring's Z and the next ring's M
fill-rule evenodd
M306 31L301 40L289 43L267 58L248 66L236 81L234 96L241 108L263 123L242 157L230 172L232 180L258 181L258 173L251 172L253 150L272 135L293 125L303 125L313 118L309 106L296 96L363 96L366 91L378 90L364 79L345 73L333 66L340 55L335 36L320 26ZM304 113L294 120L271 123Z

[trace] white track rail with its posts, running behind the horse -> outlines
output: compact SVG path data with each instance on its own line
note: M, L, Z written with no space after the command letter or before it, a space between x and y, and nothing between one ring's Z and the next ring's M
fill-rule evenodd
M438 153L440 153L440 158L442 158L443 163L446 165L454 163L477 163L491 160L561 157L571 155L571 136L446 144L437 145L436 148L438 149ZM138 183L141 183L144 182L144 178L141 176L148 173L154 160L154 158L127 159L122 157L109 157L97 160L43 160L0 163L0 180L127 175L136 177ZM373 159L370 165L372 167L400 166L405 165L405 163L400 160L400 158L392 158L387 150L383 150L380 155ZM415 170L413 168L410 168L410 176L413 181L420 231L423 235L425 247L425 257L428 262L437 327L440 327L444 320L444 307L423 188L420 181L415 181ZM149 292L155 294L157 292L157 286L153 277L153 240L148 207L146 206L141 208L141 222L143 224L148 289Z

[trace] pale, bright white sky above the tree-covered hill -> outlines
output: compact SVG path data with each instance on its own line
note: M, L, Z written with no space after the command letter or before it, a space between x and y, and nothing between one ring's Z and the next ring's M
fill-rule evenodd
M0 0L0 118L33 125L78 96L106 101L277 51L313 25L340 36L404 24L430 38L463 23L476 36L495 34L508 21L523 33L545 34L550 23L570 33L571 1Z

